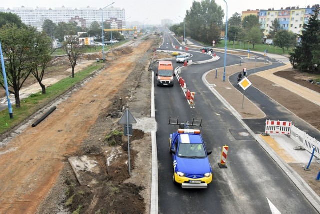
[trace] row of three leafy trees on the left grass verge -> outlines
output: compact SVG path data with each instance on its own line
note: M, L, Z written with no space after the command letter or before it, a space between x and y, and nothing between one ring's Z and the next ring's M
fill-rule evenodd
M14 94L15 106L20 108L20 90L30 75L33 75L46 93L42 83L46 69L52 61L52 38L44 31L39 32L35 27L23 24L16 14L0 12L0 42L5 61L8 91ZM62 46L72 67L83 53L76 37L67 37ZM3 68L0 67L0 85L5 88Z

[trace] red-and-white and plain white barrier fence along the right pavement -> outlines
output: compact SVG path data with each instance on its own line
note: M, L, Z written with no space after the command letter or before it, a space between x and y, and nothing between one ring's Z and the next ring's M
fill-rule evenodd
M287 134L300 146L311 152L314 149L314 156L320 158L320 142L310 137L306 132L294 126L290 121L266 120L265 133Z

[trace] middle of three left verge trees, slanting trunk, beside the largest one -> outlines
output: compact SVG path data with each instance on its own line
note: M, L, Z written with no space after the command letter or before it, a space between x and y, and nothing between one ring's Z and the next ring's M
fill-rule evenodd
M52 60L50 47L51 38L45 32L35 32L29 69L40 84L42 94L46 93L45 85L42 83L44 72L50 66Z

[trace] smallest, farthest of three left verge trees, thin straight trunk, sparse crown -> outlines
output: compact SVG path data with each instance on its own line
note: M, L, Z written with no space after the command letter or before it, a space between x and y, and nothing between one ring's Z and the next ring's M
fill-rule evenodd
M66 40L63 42L63 49L70 61L73 78L76 62L83 54L83 49L79 45L78 37L74 35L67 36Z

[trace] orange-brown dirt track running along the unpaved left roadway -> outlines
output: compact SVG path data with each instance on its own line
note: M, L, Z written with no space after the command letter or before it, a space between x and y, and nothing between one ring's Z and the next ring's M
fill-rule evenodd
M115 104L114 96L118 90L123 90L121 86L126 78L134 69L145 70L145 64L139 65L138 59L152 45L152 40L146 40L131 53L125 53L121 59L107 64L97 77L72 93L66 101L57 104L57 109L40 125L26 127L6 147L0 148L0 213L37 211L67 164L67 158L83 153L80 148L88 138L89 131L92 133L90 129L100 114L105 113L108 106L112 107L112 103ZM149 60L146 58L146 61ZM137 75L141 76L138 72ZM132 82L137 85L140 77L133 78L136 80ZM132 90L134 88L125 89L127 98L124 97L124 104ZM121 107L119 105L119 111ZM105 118L104 115L102 117ZM104 125L105 129L100 128L95 133L102 141L110 127L117 126ZM102 142L97 141L97 144Z

